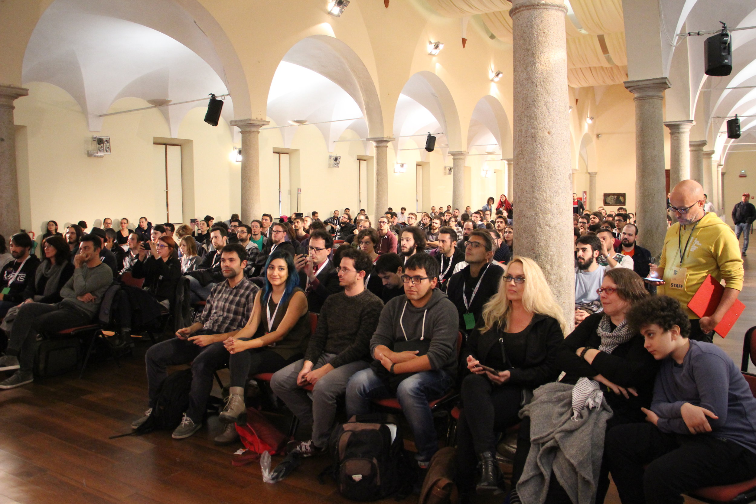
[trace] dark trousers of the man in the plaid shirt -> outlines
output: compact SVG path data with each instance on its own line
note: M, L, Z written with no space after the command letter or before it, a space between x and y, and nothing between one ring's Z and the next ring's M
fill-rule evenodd
M204 332L195 334L204 334ZM152 345L144 357L147 362L150 408L155 405L160 385L163 385L163 380L168 376L166 368L191 362L191 391L189 392L189 410L186 414L192 422L201 422L205 414L207 398L212 391L213 373L228 365L228 357L228 350L223 346L223 342L200 347L185 339L172 338Z

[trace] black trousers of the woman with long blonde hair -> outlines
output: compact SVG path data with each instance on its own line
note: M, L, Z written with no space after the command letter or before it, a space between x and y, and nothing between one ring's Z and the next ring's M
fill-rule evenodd
M518 423L522 390L516 385L494 385L481 375L468 375L460 391L462 411L457 422L457 486L475 486L478 455L496 452L494 432Z

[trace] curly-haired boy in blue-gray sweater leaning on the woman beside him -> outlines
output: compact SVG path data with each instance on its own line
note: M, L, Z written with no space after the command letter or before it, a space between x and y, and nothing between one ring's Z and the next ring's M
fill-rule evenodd
M627 313L662 366L646 423L606 434L606 460L623 504L683 502L683 493L756 477L756 398L716 345L689 339L680 302L647 298Z

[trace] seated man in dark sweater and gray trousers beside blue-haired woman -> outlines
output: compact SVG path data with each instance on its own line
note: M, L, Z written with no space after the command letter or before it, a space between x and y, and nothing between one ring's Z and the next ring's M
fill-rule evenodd
M383 301L364 286L372 269L367 253L351 247L342 252L338 275L344 291L324 302L305 358L280 369L271 379L275 394L302 424L312 425L310 440L294 449L303 456L325 453L336 400L345 394L352 375L370 366L370 337L383 309ZM314 385L311 398L303 385Z

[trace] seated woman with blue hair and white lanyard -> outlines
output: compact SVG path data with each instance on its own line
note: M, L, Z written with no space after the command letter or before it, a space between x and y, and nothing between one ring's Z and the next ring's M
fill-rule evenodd
M307 297L299 288L294 258L289 252L274 250L265 263L265 286L255 296L249 321L224 342L231 354L231 383L220 420L245 422L244 385L249 375L275 373L301 359L309 335Z

